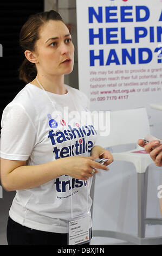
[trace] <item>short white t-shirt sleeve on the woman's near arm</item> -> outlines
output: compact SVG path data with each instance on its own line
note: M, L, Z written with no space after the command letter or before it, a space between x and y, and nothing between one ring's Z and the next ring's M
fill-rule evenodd
M1 120L1 151L3 159L29 159L36 143L36 129L23 106L9 104Z

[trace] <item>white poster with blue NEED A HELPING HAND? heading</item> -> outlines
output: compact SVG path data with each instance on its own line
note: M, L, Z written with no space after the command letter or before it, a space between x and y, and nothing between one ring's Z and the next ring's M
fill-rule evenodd
M76 3L79 89L91 109L162 103L162 1Z

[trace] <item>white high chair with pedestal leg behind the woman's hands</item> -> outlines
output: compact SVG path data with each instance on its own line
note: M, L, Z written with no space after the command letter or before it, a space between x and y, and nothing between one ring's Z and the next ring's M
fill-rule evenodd
M138 236L119 233L115 231L93 230L94 236L107 236L129 241L139 245L162 244L162 237L145 237L146 223L161 224L161 219L146 219L147 203L147 179L148 166L153 163L144 148L139 147L137 141L150 133L150 125L146 108L126 109L111 112L111 129L107 137L99 137L99 144L103 148L115 145L135 144L135 148L121 153L112 153L114 161L132 162L135 166L138 178ZM92 184L91 197L94 197L94 181ZM92 210L93 215L93 210Z

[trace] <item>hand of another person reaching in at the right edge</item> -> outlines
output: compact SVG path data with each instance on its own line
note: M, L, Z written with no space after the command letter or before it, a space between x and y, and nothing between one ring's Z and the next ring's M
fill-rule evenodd
M156 166L162 166L162 145L158 145L159 141L151 141L145 144L143 139L139 139L138 144L140 147L145 148L146 152L150 154Z

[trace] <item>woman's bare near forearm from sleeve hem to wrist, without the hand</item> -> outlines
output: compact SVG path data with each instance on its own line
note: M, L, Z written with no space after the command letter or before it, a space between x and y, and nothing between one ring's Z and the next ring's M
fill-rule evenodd
M26 161L6 160L1 158L1 182L8 191L23 190L48 182L62 175L54 161L26 166Z

